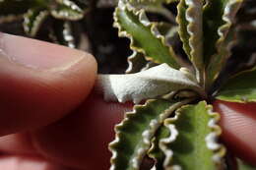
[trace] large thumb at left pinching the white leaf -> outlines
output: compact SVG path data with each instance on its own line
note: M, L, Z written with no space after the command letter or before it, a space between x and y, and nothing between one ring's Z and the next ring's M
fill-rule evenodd
M0 136L62 118L85 99L95 79L90 54L0 32Z

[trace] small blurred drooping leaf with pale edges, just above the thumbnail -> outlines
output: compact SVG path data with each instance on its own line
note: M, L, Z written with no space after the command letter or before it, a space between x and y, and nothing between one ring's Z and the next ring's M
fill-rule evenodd
M30 9L27 14L24 15L24 30L30 36L35 36L43 22L49 16L48 11L45 9Z

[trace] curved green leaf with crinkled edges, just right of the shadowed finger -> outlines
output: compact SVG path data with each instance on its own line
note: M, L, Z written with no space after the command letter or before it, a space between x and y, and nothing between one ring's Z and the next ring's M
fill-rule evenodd
M163 120L190 101L148 100L145 105L137 105L133 112L126 113L124 120L115 127L115 140L109 144L112 152L110 169L139 170Z

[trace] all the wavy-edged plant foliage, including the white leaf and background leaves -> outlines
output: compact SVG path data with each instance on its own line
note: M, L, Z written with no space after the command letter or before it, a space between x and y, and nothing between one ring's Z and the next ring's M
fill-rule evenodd
M25 31L34 36L52 18L55 40L75 47L72 24L86 16L91 6L85 2L2 0L0 21L22 16ZM211 99L256 101L255 67L224 77L226 84L219 82L234 55L232 47L244 47L245 32L255 29L256 7L242 0L119 0L112 4L113 26L120 37L130 40L132 55L127 74L99 75L96 88L105 100L132 100L136 105L115 127L115 140L109 144L110 169L139 170L147 156L155 161L152 170L227 169L226 149L219 140L220 115L214 112ZM178 42L182 42L181 53L175 47ZM239 168L250 169L241 163Z

